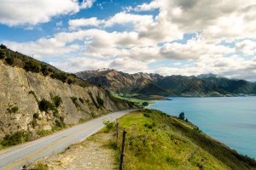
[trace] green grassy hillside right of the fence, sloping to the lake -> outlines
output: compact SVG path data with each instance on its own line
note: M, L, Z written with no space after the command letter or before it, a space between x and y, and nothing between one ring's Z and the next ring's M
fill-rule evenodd
M160 111L131 113L119 126L127 131L125 169L256 169L253 159Z

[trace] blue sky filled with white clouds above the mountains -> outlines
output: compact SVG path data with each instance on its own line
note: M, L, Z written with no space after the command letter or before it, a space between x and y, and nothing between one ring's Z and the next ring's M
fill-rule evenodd
M67 72L256 82L255 0L0 0L0 43Z

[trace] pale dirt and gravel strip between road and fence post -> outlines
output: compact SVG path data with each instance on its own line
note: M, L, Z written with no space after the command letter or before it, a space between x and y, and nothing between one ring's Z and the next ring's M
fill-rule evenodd
M113 170L117 169L115 151L107 146L109 133L96 133L80 144L70 146L61 154L44 157L27 167L55 170ZM39 168L38 168L39 169Z

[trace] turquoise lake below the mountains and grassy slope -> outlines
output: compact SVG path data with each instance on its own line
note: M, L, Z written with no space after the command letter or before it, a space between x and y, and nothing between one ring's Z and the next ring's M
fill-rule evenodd
M156 101L149 109L178 116L184 112L213 139L256 158L256 97L182 98Z

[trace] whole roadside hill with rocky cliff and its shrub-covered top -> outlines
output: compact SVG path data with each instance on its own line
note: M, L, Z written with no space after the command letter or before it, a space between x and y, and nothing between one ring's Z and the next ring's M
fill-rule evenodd
M133 107L103 88L8 48L1 49L0 103L3 145Z

